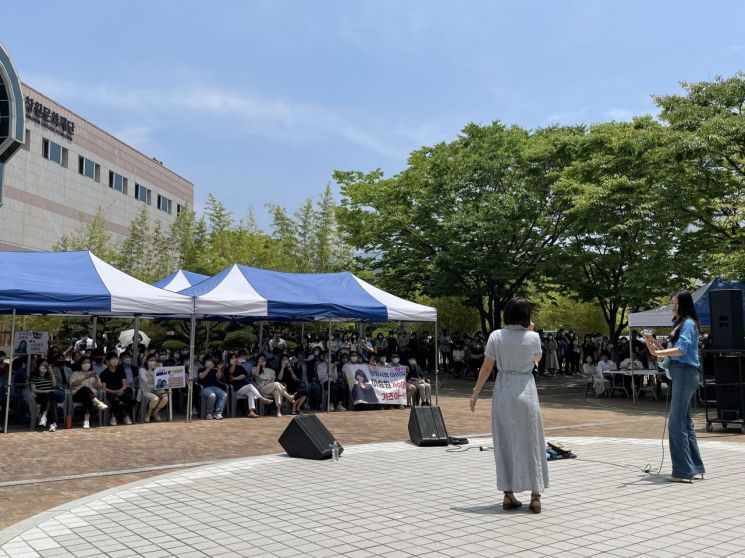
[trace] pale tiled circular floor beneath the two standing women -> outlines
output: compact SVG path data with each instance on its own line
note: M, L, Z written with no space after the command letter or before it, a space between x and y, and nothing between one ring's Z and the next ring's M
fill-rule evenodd
M390 442L349 446L339 463L260 456L140 481L52 510L21 532L0 532L0 556L44 556L42 547L52 544L59 545L54 552L61 549L60 555L122 558L745 554L745 530L741 518L732 515L745 503L745 492L734 491L731 482L742 471L745 445L702 441L707 480L678 485L642 471L644 464L659 462L659 440L556 439L579 457L549 464L551 488L540 515L526 506L501 509L491 452L452 453ZM488 443L472 440L475 447ZM421 483L386 490L391 471L415 470L423 473ZM281 478L283 486L297 487L292 507L278 507L275 494L261 490L252 492L247 513L245 498L233 496L245 490L246 478ZM166 518L172 503L191 501L178 516L188 535L172 536L161 516L146 528L143 494L160 502ZM215 507L215 501L221 505ZM99 527L112 521L111 502L130 511L117 512L122 531L107 537ZM211 510L209 516L204 509ZM50 536L75 518L82 523L71 533ZM712 522L719 519L717 532ZM287 526L292 529L284 531ZM276 535L269 538L272 529ZM143 540L133 541L133 534ZM159 546L170 543L180 546Z

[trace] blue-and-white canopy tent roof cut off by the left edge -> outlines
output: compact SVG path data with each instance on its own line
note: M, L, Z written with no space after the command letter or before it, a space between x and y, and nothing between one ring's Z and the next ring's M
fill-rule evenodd
M0 252L0 313L13 315L12 361L16 314L134 316L137 330L141 316L192 317L194 301L135 279L88 251ZM10 389L6 431L9 398Z

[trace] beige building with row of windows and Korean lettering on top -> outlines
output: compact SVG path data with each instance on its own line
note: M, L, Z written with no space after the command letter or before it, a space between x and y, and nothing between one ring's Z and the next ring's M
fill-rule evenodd
M168 227L194 185L28 85L26 142L5 166L0 250L49 250L99 207L114 239L146 206Z

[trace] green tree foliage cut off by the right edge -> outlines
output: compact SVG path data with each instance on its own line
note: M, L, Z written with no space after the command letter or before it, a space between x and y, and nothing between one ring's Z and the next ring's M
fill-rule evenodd
M689 253L705 270L745 277L745 73L682 83L683 95L655 97L674 135L671 158L686 174L668 199L691 223Z

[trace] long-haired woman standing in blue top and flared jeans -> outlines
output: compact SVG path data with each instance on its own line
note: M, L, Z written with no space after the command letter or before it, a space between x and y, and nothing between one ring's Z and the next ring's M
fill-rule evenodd
M699 384L699 319L693 297L688 291L673 295L670 306L674 324L670 348L663 348L649 332L645 332L644 340L652 356L670 359L672 396L667 431L673 472L668 479L690 483L702 480L705 473L691 418L691 398Z

